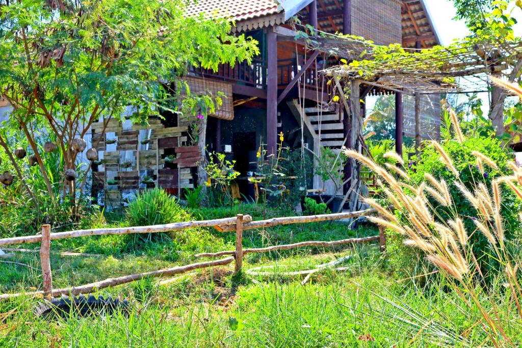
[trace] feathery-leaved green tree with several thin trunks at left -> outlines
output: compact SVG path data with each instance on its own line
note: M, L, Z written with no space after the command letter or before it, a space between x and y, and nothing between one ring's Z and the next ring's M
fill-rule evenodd
M77 139L93 122L122 118L129 105L135 123L162 110L183 111L166 82L179 93L186 86L177 77L190 66L217 69L258 54L257 42L231 35L226 19L188 17L185 9L184 0L0 0L0 97L13 106L8 126L27 137L50 196L56 183L37 141L39 127L56 138L63 175L76 170ZM212 108L186 109L195 117ZM73 180L62 177L59 185L74 194Z

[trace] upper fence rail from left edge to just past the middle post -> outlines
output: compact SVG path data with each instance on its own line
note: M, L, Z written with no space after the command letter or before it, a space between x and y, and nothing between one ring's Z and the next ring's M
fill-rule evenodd
M189 229L191 227L213 227L213 226L217 226L217 225L233 224L233 223L235 223L235 221L236 221L236 218L225 218L225 219L216 219L216 220L175 222L175 223L170 223L170 224L165 224L165 225L57 232L57 233L51 233L51 241L53 241L54 239L76 238L76 237L85 237L85 236L170 232L170 231ZM243 217L243 221L252 221L252 217L250 215L245 215ZM233 228L235 229L235 227L233 227ZM233 229L232 229L232 231L233 231ZM41 240L42 240L41 235L3 238L3 239L0 239L0 246L12 245L12 244L22 244L22 243L38 243Z

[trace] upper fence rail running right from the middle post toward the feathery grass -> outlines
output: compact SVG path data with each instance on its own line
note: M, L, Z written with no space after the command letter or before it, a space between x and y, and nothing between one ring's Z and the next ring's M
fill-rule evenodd
M246 222L243 224L244 230L253 230L253 229L262 229L265 227L272 227L277 225L286 225L292 223L305 223L305 222L320 222L320 221L329 221L329 220L340 220L340 219L348 219L348 218L356 218L361 215L368 215L376 212L375 209L366 209L360 211L346 212L346 213L336 213L336 214L323 214L323 215L309 215L304 217L287 217L287 218L272 218L268 220L259 220ZM219 226L219 231L222 232L231 232L234 231L235 225L229 224L226 226ZM1 243L1 239L0 239ZM2 245L2 244L0 244Z

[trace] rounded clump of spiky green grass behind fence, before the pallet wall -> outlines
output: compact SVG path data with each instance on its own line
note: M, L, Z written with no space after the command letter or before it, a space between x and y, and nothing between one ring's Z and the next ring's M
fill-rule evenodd
M163 225L192 220L191 214L183 210L177 199L161 188L139 193L136 199L129 203L126 217L131 226ZM167 233L134 234L131 237L133 238L132 244L170 238Z

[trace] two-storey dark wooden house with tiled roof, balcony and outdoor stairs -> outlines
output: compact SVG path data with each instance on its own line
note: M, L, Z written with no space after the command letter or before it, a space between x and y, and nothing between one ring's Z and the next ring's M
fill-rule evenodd
M259 42L261 54L251 64L240 63L233 68L224 65L217 72L192 71L193 76L231 86L228 97L234 105L233 115L226 121L209 118L207 145L209 150L229 152L242 175L255 172L255 155L262 143L268 151L276 149L281 131L286 146L298 147L303 141L315 153L321 147L338 150L344 145L346 111L341 104L331 102L333 96L318 74L328 64L338 64L341 57L324 57L306 50L295 40L296 27L302 29L308 24L327 33L352 34L381 45L401 43L410 49L440 44L423 0L199 0L189 11L228 16L235 22L235 32L251 35ZM292 26L295 22L300 25ZM366 91L372 92L378 91ZM403 98L404 117L398 116L404 120L404 127L398 139L403 134L414 135L413 123L409 122L414 117L414 101L407 95ZM423 134L436 137L440 125L436 121L440 117L436 97L423 97L422 110L423 116L432 119L431 125L423 123ZM305 128L303 139L301 126ZM326 194L342 194L317 176L312 185L309 188L326 188Z

